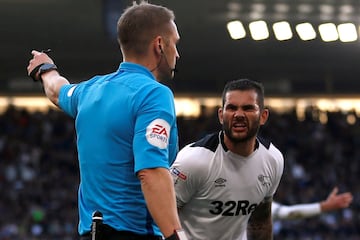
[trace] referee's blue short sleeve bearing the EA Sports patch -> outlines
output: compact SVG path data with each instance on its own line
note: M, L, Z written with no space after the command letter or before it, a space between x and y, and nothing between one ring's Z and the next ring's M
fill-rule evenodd
M174 97L163 85L140 91L135 104L134 171L169 168L178 149Z

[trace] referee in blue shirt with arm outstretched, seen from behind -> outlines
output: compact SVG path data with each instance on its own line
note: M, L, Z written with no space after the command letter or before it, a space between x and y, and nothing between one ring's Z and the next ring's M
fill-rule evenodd
M106 240L186 239L169 173L178 150L174 96L160 83L173 78L179 58L174 19L165 7L134 2L117 25L123 55L118 70L78 84L61 76L45 52L32 51L29 76L75 120L82 240L94 234ZM96 211L102 221L92 234Z

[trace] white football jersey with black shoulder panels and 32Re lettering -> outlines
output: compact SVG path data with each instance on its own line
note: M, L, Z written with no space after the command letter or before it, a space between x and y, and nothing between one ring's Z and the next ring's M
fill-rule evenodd
M189 239L247 239L251 213L264 199L272 198L283 168L281 152L260 140L248 157L228 151L222 132L185 146L171 174Z

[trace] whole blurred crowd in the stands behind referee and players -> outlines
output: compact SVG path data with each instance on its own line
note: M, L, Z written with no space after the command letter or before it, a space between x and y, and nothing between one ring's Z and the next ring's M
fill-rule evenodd
M284 154L285 171L275 200L321 201L334 186L354 195L350 208L306 220L275 221L275 239L360 239L360 118L328 112L326 123L309 108L276 113L260 131ZM355 120L355 121L354 121ZM0 240L77 239L79 182L74 123L64 113L9 106L0 113ZM216 109L178 118L180 146L220 125Z

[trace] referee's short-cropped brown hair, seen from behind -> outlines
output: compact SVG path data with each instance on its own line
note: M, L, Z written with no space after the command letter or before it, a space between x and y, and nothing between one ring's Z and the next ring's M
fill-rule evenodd
M174 20L174 12L166 7L146 1L134 2L125 9L117 23L122 51L143 55L155 37L162 36L166 40Z

